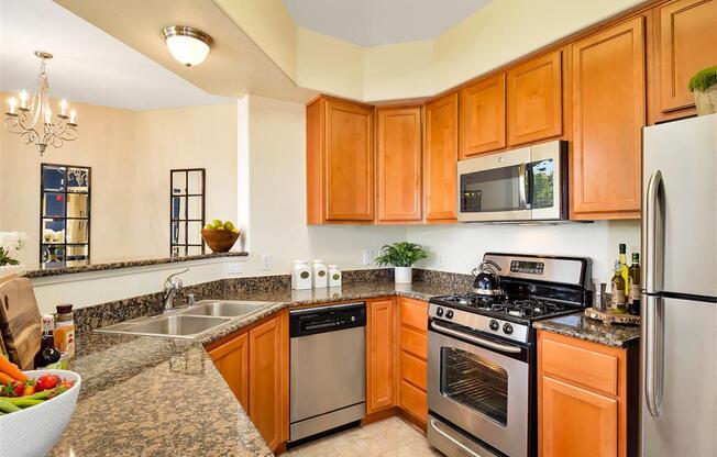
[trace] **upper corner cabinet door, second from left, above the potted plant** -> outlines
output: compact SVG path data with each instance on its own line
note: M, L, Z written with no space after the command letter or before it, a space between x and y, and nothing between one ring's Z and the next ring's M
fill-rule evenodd
M377 221L421 221L421 108L379 108Z

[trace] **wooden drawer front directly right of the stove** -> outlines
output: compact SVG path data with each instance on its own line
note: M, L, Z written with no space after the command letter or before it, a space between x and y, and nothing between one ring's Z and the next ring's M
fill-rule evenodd
M577 342L581 346L589 343ZM618 359L614 355L553 341L541 339L541 372L617 397Z

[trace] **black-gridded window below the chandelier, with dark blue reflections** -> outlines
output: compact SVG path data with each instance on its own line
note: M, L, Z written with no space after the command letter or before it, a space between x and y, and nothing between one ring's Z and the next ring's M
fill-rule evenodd
M41 265L89 264L90 180L90 167L41 164Z

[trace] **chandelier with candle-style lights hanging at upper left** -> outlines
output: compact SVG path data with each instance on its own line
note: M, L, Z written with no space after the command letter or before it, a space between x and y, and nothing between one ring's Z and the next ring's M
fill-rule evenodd
M27 92L19 93L18 100L12 97L8 100L10 111L5 113L3 122L5 129L20 135L24 144L34 144L42 156L47 146L62 147L64 142L77 140L77 123L75 110L67 115L67 101L59 103L59 113L56 122L53 122L52 110L49 109L49 81L45 71L45 60L53 58L53 55L43 51L35 51L35 55L42 60L35 93L27 104Z

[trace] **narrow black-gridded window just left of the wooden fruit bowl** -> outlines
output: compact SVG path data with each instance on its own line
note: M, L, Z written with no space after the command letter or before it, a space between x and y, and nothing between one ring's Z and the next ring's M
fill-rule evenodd
M205 254L201 228L205 226L203 168L169 171L169 255Z

